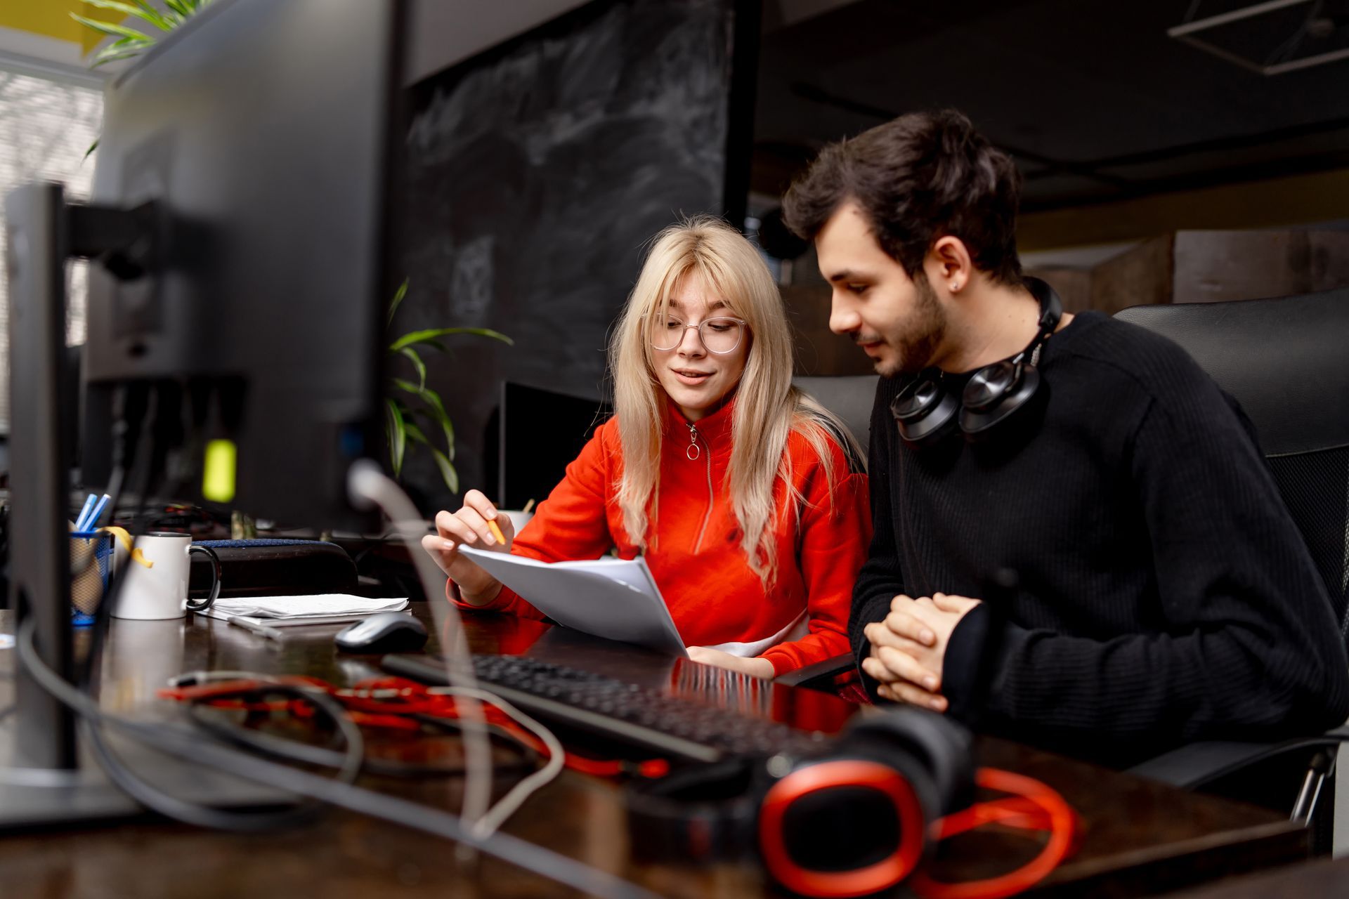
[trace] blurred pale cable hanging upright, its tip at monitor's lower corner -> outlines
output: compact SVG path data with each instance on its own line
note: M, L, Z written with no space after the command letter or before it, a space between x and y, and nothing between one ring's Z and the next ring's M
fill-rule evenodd
M472 826L479 818L487 814L487 806L492 791L492 752L487 739L487 720L473 691L479 690L478 677L473 674L472 655L468 651L468 640L464 636L464 627L459 619L459 609L451 602L437 602L437 585L440 570L421 549L421 538L426 532L426 523L413 505L407 495L391 478L389 478L379 465L370 460L359 460L352 464L347 473L347 491L353 504L375 505L389 518L391 527L395 527L407 545L407 554L417 567L422 590L426 593L432 616L436 619L436 631L441 636L442 656L445 659L445 679L452 687L461 689L468 702L460 717L464 720L464 821Z

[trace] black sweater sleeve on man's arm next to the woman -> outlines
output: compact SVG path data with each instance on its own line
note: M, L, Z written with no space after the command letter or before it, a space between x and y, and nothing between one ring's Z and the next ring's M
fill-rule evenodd
M876 403L871 406L871 441L866 465L871 497L871 546L853 586L853 609L847 625L862 685L873 701L877 698L878 683L861 667L862 659L871 655L871 642L862 629L889 615L890 601L896 594L905 592L898 542L894 535L894 515L890 508L893 474L890 466L896 464L894 421L890 416L893 394L894 381L889 377L880 379L876 385Z

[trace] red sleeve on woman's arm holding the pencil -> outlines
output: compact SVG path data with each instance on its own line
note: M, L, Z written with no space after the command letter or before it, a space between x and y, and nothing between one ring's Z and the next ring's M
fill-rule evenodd
M553 488L548 499L511 543L511 555L525 555L541 562L569 559L596 559L614 546L606 515L608 496L615 477L618 435L612 422L596 429L595 435L581 449L567 476ZM464 609L510 612L526 619L544 619L544 613L519 597L509 586L483 605L471 605L459 598L453 581L445 584L445 596Z

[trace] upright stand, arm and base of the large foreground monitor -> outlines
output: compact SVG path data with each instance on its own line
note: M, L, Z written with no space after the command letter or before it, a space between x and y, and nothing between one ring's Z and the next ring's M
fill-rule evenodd
M115 275L148 278L155 210L65 202L61 185L19 187L4 202L9 275L9 597L15 633L35 625L38 656L74 679L70 624L70 538L66 520L74 434L59 411L66 349L65 264L97 257ZM74 713L23 664L13 671L15 712L0 722L0 830L73 826L139 817L144 810L78 751ZM173 795L223 806L293 803L275 790L186 763L146 747L121 747L128 766L152 771ZM144 760L146 756L161 756Z

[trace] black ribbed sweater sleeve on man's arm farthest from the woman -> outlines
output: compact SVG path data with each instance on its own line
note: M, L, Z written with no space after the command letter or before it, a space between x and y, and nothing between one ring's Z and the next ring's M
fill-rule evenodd
M969 663L997 640L990 726L1141 748L1311 733L1349 714L1349 662L1302 536L1221 391L1190 381L1152 400L1132 445L1156 621L1097 640L1009 623L986 635L987 619L967 616L946 658Z

